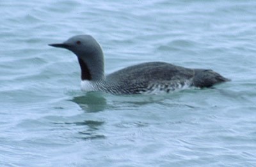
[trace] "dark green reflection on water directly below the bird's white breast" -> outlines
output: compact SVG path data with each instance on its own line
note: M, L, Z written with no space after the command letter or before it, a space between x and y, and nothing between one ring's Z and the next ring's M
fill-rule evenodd
M104 111L107 104L103 93L100 92L88 92L85 95L74 97L71 101L76 102L81 109L89 113Z

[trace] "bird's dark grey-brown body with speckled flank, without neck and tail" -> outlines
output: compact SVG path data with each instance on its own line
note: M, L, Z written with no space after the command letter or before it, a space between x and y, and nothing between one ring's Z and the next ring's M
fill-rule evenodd
M151 93L155 90L170 91L184 86L194 76L189 68L170 63L149 62L123 68L106 77L111 88L122 93Z

